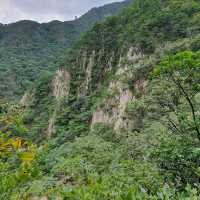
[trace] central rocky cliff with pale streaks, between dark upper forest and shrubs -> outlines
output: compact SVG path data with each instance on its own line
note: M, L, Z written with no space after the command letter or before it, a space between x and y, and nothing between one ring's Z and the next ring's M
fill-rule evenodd
M129 106L142 102L145 96L148 96L148 76L152 67L171 52L191 49L192 40L190 44L188 42L185 38L181 42L168 41L165 45L157 44L152 53L146 53L138 47L125 48L122 44L121 49L119 46L117 51L107 52L108 58L102 53L105 50L91 47L87 50L90 54L84 54L82 59L80 52L77 53L76 62L72 60L72 63L82 76L75 76L71 95L75 97L75 102L79 102L81 98L89 99L90 107L87 109L91 112L90 129L104 124L112 127L117 134L140 131L142 125L138 124L142 124L142 118L145 118L143 108L133 116L128 111ZM71 73L73 76L74 71ZM81 106L80 109L85 109L84 104Z

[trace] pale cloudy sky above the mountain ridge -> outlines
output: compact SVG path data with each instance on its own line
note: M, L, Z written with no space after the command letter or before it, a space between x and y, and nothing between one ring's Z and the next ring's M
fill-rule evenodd
M0 0L0 23L49 22L79 17L93 7L122 0Z

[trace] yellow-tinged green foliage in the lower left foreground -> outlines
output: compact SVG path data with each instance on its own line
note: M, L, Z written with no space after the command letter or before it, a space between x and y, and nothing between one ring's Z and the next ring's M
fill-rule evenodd
M39 175L36 167L36 147L20 138L26 136L21 118L22 111L13 105L7 107L7 113L0 115L0 198L9 199L18 186L26 184ZM17 130L17 131L16 131Z

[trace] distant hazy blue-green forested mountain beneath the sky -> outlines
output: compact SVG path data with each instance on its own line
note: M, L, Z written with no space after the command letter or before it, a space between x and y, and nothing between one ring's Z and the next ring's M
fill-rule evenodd
M74 21L39 24L19 21L0 24L0 96L15 99L44 72L54 71L56 58L96 22L115 15L130 1L88 11Z

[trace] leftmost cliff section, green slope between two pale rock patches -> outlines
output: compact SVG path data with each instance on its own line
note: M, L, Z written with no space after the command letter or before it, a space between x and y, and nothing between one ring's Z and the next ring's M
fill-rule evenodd
M65 69L58 69L55 74L44 76L36 87L27 91L20 104L26 108L27 123L33 130L33 136L43 132L38 137L51 138L57 131L56 122L70 93L71 76ZM36 134L36 135L34 135Z

